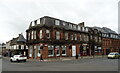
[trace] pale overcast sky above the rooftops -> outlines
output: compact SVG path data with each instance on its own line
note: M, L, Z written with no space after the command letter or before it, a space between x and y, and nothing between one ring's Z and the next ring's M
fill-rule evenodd
M28 29L31 21L51 16L85 26L108 27L118 32L119 0L0 0L0 42Z

